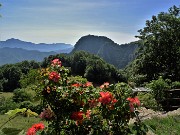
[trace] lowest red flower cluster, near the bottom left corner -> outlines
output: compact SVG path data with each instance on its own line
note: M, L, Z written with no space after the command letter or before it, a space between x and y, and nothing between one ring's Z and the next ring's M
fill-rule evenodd
M36 132L42 129L44 129L43 123L34 124L31 128L28 129L26 135L36 135Z

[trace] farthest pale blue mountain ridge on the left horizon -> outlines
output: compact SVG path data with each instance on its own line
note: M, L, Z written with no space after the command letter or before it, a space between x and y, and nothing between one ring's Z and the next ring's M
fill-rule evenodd
M26 42L26 41L21 41L19 39L8 39L6 41L0 41L0 48L22 48L25 50L37 50L40 52L64 52L64 53L69 53L73 46L70 44L65 44L65 43L53 43L53 44L45 44L45 43L40 43L40 44L35 44L32 42Z

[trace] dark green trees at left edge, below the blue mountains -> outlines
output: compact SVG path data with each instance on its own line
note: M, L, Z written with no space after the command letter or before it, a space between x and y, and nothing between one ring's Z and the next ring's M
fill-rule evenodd
M26 74L30 69L39 68L39 63L35 61L23 61L16 64L6 64L0 67L0 91L12 92L14 89L20 87L19 80L24 76L26 79L22 80L22 85L27 86L30 80L33 83L33 71L31 71L29 77ZM28 79L29 78L29 79Z

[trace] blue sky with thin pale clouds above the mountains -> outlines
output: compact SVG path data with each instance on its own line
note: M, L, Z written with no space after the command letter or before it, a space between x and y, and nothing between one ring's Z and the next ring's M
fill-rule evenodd
M138 40L153 15L179 0L0 0L0 40L74 45L82 36L106 36L118 44Z

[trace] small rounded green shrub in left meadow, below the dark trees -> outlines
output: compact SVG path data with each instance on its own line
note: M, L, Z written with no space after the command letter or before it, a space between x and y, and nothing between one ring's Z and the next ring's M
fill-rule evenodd
M14 95L12 99L16 103L20 103L23 101L32 101L32 95L30 93L27 93L25 89L16 89L13 93Z

